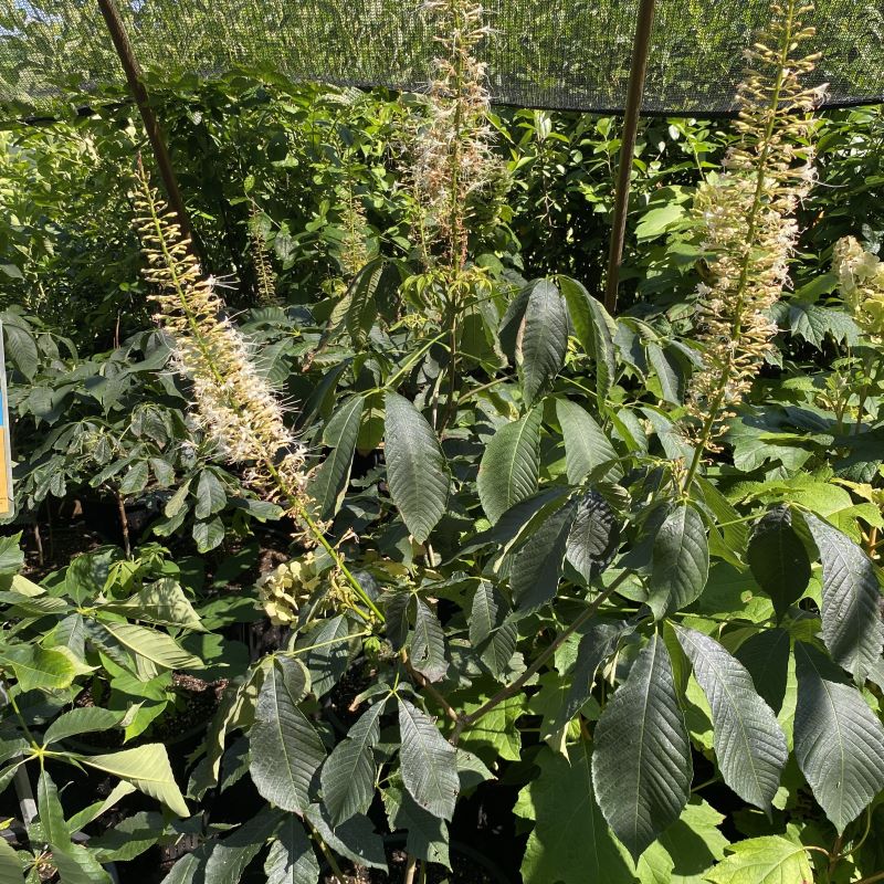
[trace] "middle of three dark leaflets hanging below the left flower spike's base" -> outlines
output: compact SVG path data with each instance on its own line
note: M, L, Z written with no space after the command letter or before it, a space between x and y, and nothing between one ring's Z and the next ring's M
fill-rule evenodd
M335 825L366 813L375 797L373 749L380 738L380 701L362 713L323 765L323 802Z

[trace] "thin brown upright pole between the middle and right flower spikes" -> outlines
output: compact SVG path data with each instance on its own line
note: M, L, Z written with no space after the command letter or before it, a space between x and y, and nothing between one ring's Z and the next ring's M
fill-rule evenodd
M654 23L654 0L640 0L639 20L632 42L632 65L629 72L627 106L623 114L623 135L620 144L620 164L617 169L614 192L614 220L611 230L611 248L608 253L608 280L604 287L604 307L608 313L617 311L617 292L620 286L620 265L623 261L623 242L627 236L627 210L629 208L632 155L635 151L635 135L639 130L639 112L644 94L648 73L648 54L651 49L651 29Z

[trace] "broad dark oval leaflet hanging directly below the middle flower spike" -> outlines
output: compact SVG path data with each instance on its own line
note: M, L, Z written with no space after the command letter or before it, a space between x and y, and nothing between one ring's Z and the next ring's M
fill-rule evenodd
M402 520L422 544L445 512L451 477L433 428L414 406L388 392L383 422L387 481Z

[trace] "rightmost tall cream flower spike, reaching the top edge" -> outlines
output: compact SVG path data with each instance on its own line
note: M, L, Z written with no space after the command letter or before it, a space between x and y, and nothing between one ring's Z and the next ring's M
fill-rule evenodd
M824 87L801 82L818 56L794 57L813 35L798 21L810 7L786 0L771 9L769 35L746 53L751 67L737 94L739 138L695 202L712 277L697 287L704 365L686 402L693 422L685 430L698 456L717 448L715 439L771 350L777 327L769 312L788 284L799 234L794 212L815 179L812 113Z

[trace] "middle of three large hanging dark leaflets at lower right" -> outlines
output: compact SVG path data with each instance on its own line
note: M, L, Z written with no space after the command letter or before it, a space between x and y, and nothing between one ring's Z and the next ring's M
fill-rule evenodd
M715 755L724 781L744 801L769 811L789 755L774 713L743 664L718 642L696 630L675 627L675 631L712 708Z

